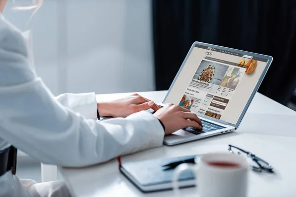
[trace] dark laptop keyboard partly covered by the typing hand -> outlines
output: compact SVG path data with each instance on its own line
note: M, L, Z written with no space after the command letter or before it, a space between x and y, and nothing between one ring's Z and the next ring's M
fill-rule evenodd
M151 114L155 113L155 111L152 110L152 109L148 109L147 111L149 113L151 113ZM217 131L217 130L225 129L225 127L222 127L220 125L216 125L216 124L204 121L204 120L201 120L201 122L202 122L202 129L201 130L196 129L194 127L186 127L183 130L187 131L187 132L190 132L190 133L193 133L195 135L198 135L198 134L205 133L205 132L211 132L211 131Z

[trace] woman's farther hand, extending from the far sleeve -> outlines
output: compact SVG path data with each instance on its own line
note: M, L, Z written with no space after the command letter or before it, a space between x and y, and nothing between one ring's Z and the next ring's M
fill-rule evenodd
M118 100L98 102L100 116L127 117L133 113L150 108L157 111L161 107L138 94L133 94Z

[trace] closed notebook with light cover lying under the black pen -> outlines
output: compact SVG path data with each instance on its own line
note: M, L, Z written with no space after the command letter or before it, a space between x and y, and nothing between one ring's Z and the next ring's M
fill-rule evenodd
M192 157L195 156L126 162L122 163L120 171L142 192L171 190L174 169L164 170L162 166ZM192 172L181 174L179 181L181 188L195 186L195 176Z

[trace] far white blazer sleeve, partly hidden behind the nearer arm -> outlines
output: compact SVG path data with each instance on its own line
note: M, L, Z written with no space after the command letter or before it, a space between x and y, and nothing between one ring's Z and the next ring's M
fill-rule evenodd
M97 100L95 93L62 94L55 98L62 105L71 108L85 118L97 120Z

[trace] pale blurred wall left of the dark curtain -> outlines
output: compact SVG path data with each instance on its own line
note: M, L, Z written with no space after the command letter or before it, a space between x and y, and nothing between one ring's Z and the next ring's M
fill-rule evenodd
M12 0L8 0L12 1ZM36 70L57 95L154 90L150 0L44 0L32 11L4 10L31 29Z

